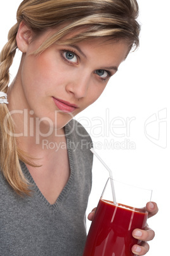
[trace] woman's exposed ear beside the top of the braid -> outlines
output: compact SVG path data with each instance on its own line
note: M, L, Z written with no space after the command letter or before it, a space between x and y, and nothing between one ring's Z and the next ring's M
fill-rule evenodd
M22 21L18 27L18 32L16 34L16 43L18 49L25 53L32 39L33 32L32 30Z

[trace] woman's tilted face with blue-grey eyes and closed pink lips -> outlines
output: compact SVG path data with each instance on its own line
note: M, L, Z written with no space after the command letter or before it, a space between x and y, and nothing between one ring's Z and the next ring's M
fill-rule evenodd
M52 31L51 31L52 33ZM32 52L50 34L28 43L18 72L18 108L32 117L49 118L62 128L72 117L94 103L126 58L128 44L105 39L75 45L52 45L39 55Z

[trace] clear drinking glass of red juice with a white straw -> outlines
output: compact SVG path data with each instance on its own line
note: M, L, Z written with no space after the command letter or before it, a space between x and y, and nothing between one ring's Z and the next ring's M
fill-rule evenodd
M112 181L112 182L111 182ZM113 185L117 203L113 203ZM152 190L134 187L108 178L91 223L83 256L133 256L131 248L140 243L134 229L144 229L145 205Z

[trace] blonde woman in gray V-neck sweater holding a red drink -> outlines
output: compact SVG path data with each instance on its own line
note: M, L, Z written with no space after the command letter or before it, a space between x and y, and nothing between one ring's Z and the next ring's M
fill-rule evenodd
M2 255L82 255L92 142L72 118L138 46L137 15L135 0L20 4L0 59ZM22 59L8 89L16 48ZM155 215L156 204L147 210ZM154 231L133 236L143 241L133 253L147 253Z

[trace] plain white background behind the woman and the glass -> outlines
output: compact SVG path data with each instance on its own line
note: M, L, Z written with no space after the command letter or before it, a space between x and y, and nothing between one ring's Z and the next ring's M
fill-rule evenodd
M0 3L0 48L15 24L20 3ZM153 190L152 200L157 202L159 213L148 220L155 238L147 255L162 256L169 255L170 230L168 1L140 0L139 5L140 48L121 64L100 99L76 119L91 134L96 152L112 169L116 180ZM17 57L11 79L17 70L16 62ZM98 203L107 177L107 171L95 158L88 212Z

